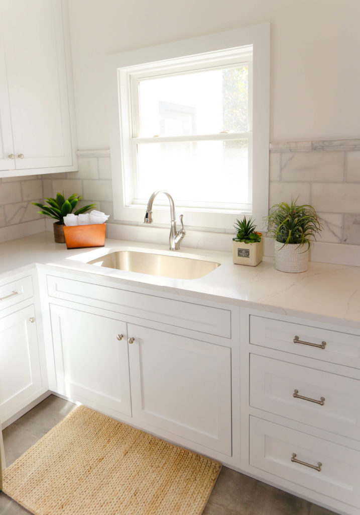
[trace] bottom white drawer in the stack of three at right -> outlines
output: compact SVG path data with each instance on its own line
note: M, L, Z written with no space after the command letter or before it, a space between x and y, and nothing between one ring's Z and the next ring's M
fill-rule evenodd
M321 470L293 462L293 454L296 460L314 467L319 462ZM359 451L250 417L249 459L253 467L277 476L279 485L290 481L352 506L360 505Z

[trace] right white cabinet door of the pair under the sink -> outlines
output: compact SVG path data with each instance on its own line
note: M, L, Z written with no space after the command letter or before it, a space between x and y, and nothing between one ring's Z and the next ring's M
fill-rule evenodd
M128 324L133 417L231 455L231 350Z

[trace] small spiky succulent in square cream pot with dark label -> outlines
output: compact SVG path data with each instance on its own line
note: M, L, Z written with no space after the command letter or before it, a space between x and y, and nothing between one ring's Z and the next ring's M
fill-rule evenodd
M257 266L262 261L262 239L261 232L255 231L256 225L251 217L246 220L237 219L234 225L237 231L235 238L232 238L232 261L236 265Z

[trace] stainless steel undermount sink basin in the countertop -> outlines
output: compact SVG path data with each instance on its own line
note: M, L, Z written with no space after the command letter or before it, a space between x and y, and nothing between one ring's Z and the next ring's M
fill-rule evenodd
M88 264L174 279L199 279L221 265L221 263L196 258L151 254L134 250L109 252L109 254L89 261Z

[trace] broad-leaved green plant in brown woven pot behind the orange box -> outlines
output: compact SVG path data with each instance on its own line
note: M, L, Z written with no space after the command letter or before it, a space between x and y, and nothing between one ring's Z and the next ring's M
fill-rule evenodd
M38 208L41 208L41 211L38 211L41 215L50 216L50 218L54 218L57 220L53 224L54 229L54 238L56 243L65 243L64 236L64 216L69 213L73 213L77 203L81 200L82 197L73 193L69 198L65 199L64 192L57 193L56 198L45 198L46 202L49 205L39 204L39 202L31 202L33 205L36 205ZM84 205L84 207L75 211L75 215L80 215L81 213L86 213L87 211L95 208L95 204Z

